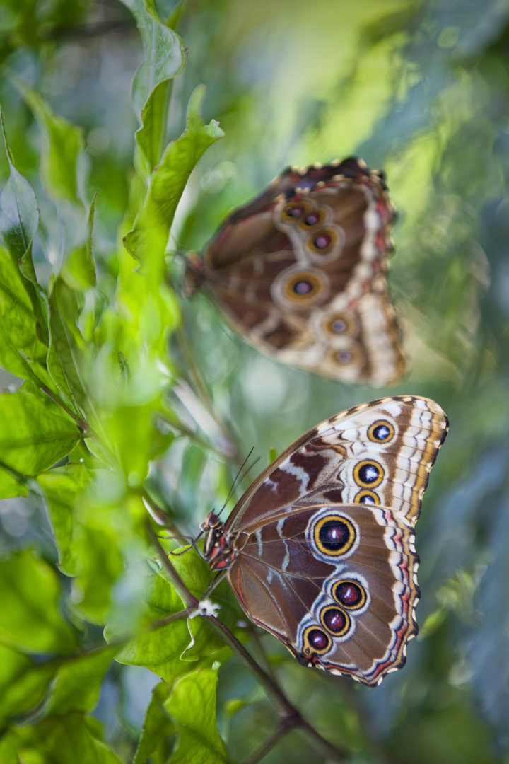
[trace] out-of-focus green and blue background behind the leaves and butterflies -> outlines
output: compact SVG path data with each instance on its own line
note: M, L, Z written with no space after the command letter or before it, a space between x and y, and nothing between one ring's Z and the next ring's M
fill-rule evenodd
M174 5L158 2L159 15ZM95 255L113 283L138 126L134 20L116 0L4 0L1 10L0 102L41 210L37 271L49 276L59 257L62 216L43 193L39 133L11 71L85 131L83 193L98 191ZM242 455L254 447L258 471L269 448L280 452L322 419L386 394L431 397L450 422L417 526L420 636L405 668L359 688L301 668L272 636L263 644L292 700L324 736L340 730L352 761L509 762L509 2L188 0L178 31L189 52L169 136L205 83L205 122L219 120L225 137L192 174L171 248L199 250L288 164L356 154L386 171L398 209L389 281L411 370L396 387L344 387L283 367L237 338L205 296L183 302L195 364ZM179 360L180 348L172 352ZM214 437L212 425L203 429ZM193 535L224 499L221 466L185 439L152 479ZM54 556L37 501L2 501L0 521L0 552L30 543ZM105 678L94 715L125 756L155 683L134 667ZM235 714L233 698L246 702ZM272 730L272 705L235 660L220 671L217 707L237 761ZM295 733L264 760L288 759L322 760Z

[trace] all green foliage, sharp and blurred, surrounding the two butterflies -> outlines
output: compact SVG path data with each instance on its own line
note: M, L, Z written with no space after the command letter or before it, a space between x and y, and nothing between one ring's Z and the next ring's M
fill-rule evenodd
M2 14L0 761L254 762L273 702L292 719L280 684L302 734L277 728L266 762L331 760L316 730L356 762L507 761L509 6ZM228 209L285 164L352 153L385 168L400 212L390 282L412 368L380 393L279 366L180 294L182 251ZM225 583L227 631L197 614L211 573L172 536L198 535L250 446L272 461L398 393L451 422L404 670L375 690L304 670Z

